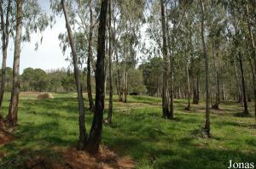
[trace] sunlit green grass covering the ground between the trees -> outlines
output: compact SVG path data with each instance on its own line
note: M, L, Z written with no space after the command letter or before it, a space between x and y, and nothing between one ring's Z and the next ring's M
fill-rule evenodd
M21 95L16 139L0 147L5 155L0 162L9 161L23 149L58 158L55 149L75 146L79 131L75 97L55 94L55 99L37 100ZM9 94L4 112L8 100ZM121 156L131 156L137 168L227 168L230 160L256 162L255 121L236 116L240 104L225 102L221 110L212 110L212 138L202 138L199 129L204 124L204 104L193 104L189 112L184 110L186 100L175 100L175 120L170 121L161 118L159 98L129 96L128 101L117 103L114 97L113 124L104 126L102 144ZM91 119L86 111L87 131Z

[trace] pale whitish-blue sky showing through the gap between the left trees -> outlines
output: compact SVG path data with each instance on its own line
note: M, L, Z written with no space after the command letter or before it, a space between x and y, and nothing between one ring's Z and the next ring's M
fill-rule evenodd
M49 11L49 0L39 0L39 2L44 10ZM61 53L60 42L58 40L59 33L64 31L66 31L65 20L61 17L57 19L52 29L48 27L43 34L32 35L31 42L23 42L20 54L20 73L26 67L41 68L43 70L67 67L69 64L65 61L65 56ZM42 35L44 37L43 43L35 51L35 43L40 40ZM10 41L7 61L9 67L13 65L13 57L14 42ZM2 57L0 58L0 64L2 65Z

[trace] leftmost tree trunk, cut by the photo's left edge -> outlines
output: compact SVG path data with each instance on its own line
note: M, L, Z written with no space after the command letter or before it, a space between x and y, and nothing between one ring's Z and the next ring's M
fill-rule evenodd
M1 14L1 29L2 29L2 82L0 87L0 122L3 120L2 115L2 104L3 94L6 86L6 61L7 61L7 49L9 46L9 13L11 11L11 0L8 1L6 20L4 21L3 14L3 1L0 3L0 14Z

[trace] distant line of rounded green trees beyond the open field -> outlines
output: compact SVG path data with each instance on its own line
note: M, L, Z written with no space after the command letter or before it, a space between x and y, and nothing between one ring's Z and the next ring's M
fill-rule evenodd
M12 68L8 67L6 70L7 81L6 90L12 89ZM130 69L129 76L129 93L146 94L146 87L143 85L143 74L141 70ZM87 91L87 73L80 71L81 83L83 91ZM0 74L0 76L2 76ZM91 75L94 77L94 75ZM108 76L106 81L108 80ZM95 91L95 79L91 79L91 87L93 93ZM114 86L115 87L115 86ZM106 83L106 90L108 91L108 83ZM56 70L42 70L26 68L20 75L20 91L22 92L55 92L55 93L73 93L76 92L75 80L73 71L65 68ZM116 93L116 92L114 92Z

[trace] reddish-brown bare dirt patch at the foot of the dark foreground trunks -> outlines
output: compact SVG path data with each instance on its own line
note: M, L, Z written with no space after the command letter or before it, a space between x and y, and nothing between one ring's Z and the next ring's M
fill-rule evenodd
M61 152L61 161L50 160L45 155L36 155L19 166L26 169L131 169L134 162L130 157L119 157L113 151L101 148L96 155L74 148Z

